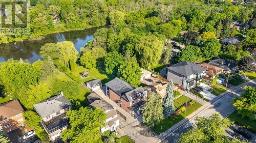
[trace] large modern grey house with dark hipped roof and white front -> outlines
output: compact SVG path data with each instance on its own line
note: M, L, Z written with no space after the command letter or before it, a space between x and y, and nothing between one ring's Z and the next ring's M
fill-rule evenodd
M166 68L167 80L172 79L184 89L189 89L200 82L205 73L206 68L186 61Z

